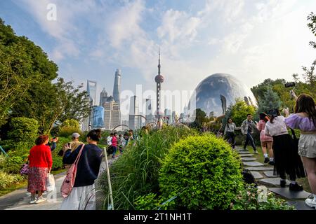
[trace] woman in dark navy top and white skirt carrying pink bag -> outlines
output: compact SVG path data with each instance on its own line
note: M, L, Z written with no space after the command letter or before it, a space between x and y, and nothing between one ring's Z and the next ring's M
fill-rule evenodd
M62 210L96 210L96 193L94 181L98 178L103 151L97 146L101 138L101 130L88 132L87 145L78 146L75 151L70 149L65 152L62 162L73 164L82 149L77 165L77 174L74 188L70 195L62 201Z

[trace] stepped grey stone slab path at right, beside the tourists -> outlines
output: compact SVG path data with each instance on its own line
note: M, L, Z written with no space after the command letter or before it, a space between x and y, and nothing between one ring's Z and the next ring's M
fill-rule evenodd
M243 148L239 147L236 148L236 151L242 159L244 168L249 169L251 174L254 175L258 186L266 186L268 190L283 197L289 204L294 205L297 210L314 210L305 204L305 199L310 193L305 190L300 192L290 191L289 181L287 181L286 188L281 188L279 177L273 175L273 166L256 161L251 151L244 151Z

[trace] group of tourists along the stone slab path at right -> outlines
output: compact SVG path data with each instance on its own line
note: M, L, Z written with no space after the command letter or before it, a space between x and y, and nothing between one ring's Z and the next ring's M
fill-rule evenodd
M254 153L258 153L251 134L255 129L260 131L264 162L274 165L274 174L279 175L281 179L280 186L282 188L286 186L286 174L288 174L291 181L289 190L301 191L303 186L299 186L296 179L307 174L312 197L307 198L305 204L316 209L316 104L308 94L296 97L291 91L291 95L296 98L295 113L290 115L289 109L283 109L284 117L279 109L271 109L269 116L260 113L258 123L252 120L251 114L248 114L241 127L236 127L232 119L228 118L224 134L232 148L235 148L234 132L241 130L246 139L244 150L250 143ZM291 137L288 127L294 135L294 129L301 130L298 141Z

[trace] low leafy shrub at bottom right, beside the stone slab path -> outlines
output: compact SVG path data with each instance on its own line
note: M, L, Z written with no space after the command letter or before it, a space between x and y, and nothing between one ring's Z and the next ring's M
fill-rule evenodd
M285 200L275 197L275 194L269 192L266 200L259 202L258 188L246 185L239 195L232 201L232 210L294 210Z

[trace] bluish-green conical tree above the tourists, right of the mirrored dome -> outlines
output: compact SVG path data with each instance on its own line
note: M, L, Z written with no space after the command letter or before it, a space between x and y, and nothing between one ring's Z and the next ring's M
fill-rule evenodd
M258 101L258 113L268 113L271 109L279 109L282 102L276 92L269 87L267 91L263 93L263 98L259 98Z

